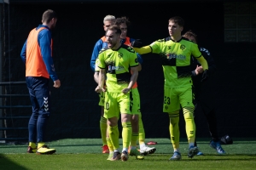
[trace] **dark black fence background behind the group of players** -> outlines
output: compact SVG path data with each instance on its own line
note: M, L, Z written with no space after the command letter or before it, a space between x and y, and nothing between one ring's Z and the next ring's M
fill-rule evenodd
M168 20L175 15L183 17L183 32L195 31L199 43L211 52L218 66L218 72L211 78L212 91L216 95L219 135L255 137L255 43L224 43L223 3L10 3L9 29L5 32L9 39L6 40L5 62L2 64L3 82L25 81L20 50L29 31L41 24L42 14L48 8L59 15L53 31L53 59L61 80L61 88L51 90L53 108L47 131L49 140L101 138L99 98L94 91L96 82L90 70L90 56L96 41L104 35L102 20L107 14L129 17L128 36L142 39L144 45L168 37ZM7 21L5 24L8 28ZM143 71L137 82L146 138L169 138L169 118L162 112L164 78L158 55L143 55ZM6 90L11 94L27 93L26 85ZM28 98L8 102L30 105ZM31 109L7 111L7 114L30 115ZM26 127L27 122L13 120L8 123L10 127ZM197 116L196 127L197 137L210 137L202 114ZM181 137L186 137L183 116L180 129ZM15 133L9 132L8 135ZM27 132L20 135L27 136Z

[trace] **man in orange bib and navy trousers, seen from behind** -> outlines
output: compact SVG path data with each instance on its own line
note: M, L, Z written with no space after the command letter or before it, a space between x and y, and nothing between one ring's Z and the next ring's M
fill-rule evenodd
M28 122L29 144L27 153L53 154L45 144L46 125L50 114L49 77L55 88L61 87L52 59L51 30L55 28L57 16L48 9L42 17L43 25L30 31L20 53L26 64L26 85L32 102L32 116ZM38 146L36 145L38 143Z

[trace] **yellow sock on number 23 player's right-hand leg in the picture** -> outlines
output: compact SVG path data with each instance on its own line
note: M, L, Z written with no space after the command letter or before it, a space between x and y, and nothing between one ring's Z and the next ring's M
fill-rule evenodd
M194 122L194 116L193 116L194 108L191 107L184 107L183 108L183 114L184 119L186 122L186 133L187 137L190 143L195 143L195 122Z

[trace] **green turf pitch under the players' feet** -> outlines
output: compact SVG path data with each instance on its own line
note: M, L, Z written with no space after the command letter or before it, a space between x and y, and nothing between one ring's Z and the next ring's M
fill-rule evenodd
M219 156L209 147L209 141L198 139L198 146L205 154L188 158L188 144L181 139L181 161L168 161L172 156L170 139L154 140L158 144L153 155L144 160L130 156L128 161L107 161L108 154L102 154L101 139L61 139L49 142L54 155L39 156L26 154L26 144L0 144L0 169L256 169L256 139L234 139L234 144L223 145L227 152ZM121 140L119 140L120 146Z

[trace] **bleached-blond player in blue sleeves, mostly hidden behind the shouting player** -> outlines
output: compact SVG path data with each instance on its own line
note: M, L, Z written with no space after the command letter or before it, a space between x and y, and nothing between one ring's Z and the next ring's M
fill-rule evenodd
M115 21L115 17L111 14L108 14L107 16L104 17L103 19L103 29L104 31L106 31L108 29L109 26L112 26L113 23ZM100 53L102 48L105 48L108 46L108 43L106 42L106 38L105 36L103 36L101 39L99 39L94 48L93 48L93 52L91 55L91 59L90 59L90 68L92 71L94 71L94 80L96 81L96 83L98 83L98 79L99 79L99 70L98 67L96 67L96 59L98 57L98 54ZM103 117L104 114L104 99L105 99L105 93L102 92L99 94L99 105L102 108L101 111L101 119L100 119L100 129L101 129L101 134L102 134L102 153L109 153L109 149L108 149L108 144L107 144L107 137L108 137L108 132L107 132L107 119L105 117Z

